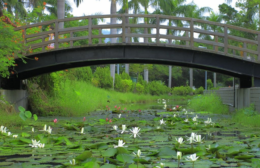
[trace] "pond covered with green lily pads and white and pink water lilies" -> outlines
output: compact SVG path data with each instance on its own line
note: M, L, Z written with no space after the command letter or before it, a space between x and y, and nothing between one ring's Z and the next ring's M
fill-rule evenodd
M229 115L190 111L184 114L180 108L172 112L152 109L129 113L111 109L86 113L86 121L83 117L56 117L59 122L54 123L53 117L44 117L33 125L11 128L8 131L18 137L6 134L0 137L0 166L135 168L138 163L139 168L156 168L163 163L163 167L171 168L178 167L179 151L182 153L179 167L183 168L193 166L186 159L195 153L199 156L194 162L197 168L260 166L259 128L232 123ZM47 130L41 131L45 124ZM114 125L119 126L116 131ZM50 134L48 126L52 128ZM32 127L37 132L32 133ZM187 140L192 132L197 137ZM177 142L181 138L186 141ZM36 144L31 139L44 143L44 148L32 147Z

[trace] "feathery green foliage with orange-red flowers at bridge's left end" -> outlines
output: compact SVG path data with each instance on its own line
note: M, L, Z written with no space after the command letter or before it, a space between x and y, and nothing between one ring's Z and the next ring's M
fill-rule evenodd
M24 50L22 43L21 31L14 31L14 27L9 24L5 24L0 18L0 76L9 77L10 72L15 72L15 57L23 58L19 50ZM22 59L23 60L23 59ZM25 63L25 61L23 60ZM10 72L9 72L10 70Z

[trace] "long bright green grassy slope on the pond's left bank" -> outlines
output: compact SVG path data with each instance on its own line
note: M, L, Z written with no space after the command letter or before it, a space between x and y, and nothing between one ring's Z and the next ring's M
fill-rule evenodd
M52 115L82 116L86 112L111 109L115 105L129 104L136 102L155 101L157 99L190 99L192 96L151 96L146 94L121 93L113 90L100 89L82 81L67 81L62 83L61 91L55 97L49 98L51 106L57 105L60 109L52 111ZM108 101L110 103L108 103Z

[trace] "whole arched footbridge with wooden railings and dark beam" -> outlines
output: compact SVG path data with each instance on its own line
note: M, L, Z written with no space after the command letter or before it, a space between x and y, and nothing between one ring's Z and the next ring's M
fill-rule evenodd
M120 23L92 24L93 20L100 18L117 18ZM149 18L154 24L129 24L126 23L127 18ZM58 28L60 22L75 20L88 20L89 24ZM168 26L166 23L169 20L179 21L184 26ZM28 33L28 29L47 25L54 25L55 30ZM103 29L117 29L119 33L102 34ZM137 29L139 31L135 33ZM149 32L148 29L151 33L143 33ZM17 74L13 75L15 81L96 64L155 63L205 69L238 77L241 87L260 86L260 32L242 27L175 16L112 14L56 19L15 30L22 30L26 48L23 54L29 58L25 59L27 64L19 63L16 67ZM179 35L166 34L167 30L179 32ZM76 36L77 32L87 32L87 35ZM55 40L46 41L50 33L55 33ZM104 43L105 38L118 38L119 42ZM133 42L133 38L144 42ZM88 44L76 46L80 40L86 40ZM49 43L55 43L55 48L46 50ZM39 60L33 60L35 57Z

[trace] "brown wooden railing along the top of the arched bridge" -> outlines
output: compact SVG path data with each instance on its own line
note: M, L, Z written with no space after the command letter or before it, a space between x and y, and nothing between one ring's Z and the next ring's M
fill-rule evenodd
M126 23L127 17L131 20L148 18L150 24ZM118 24L95 24L97 19L104 18L117 18L120 22ZM81 21L86 25L69 26L73 25L71 24L73 21ZM169 21L178 23L178 25L168 26ZM64 22L64 25L68 27L59 29L60 22ZM55 29L51 31L30 31L32 28L43 28L48 25L53 25ZM118 31L116 34L102 34L104 29L117 29ZM150 30L146 31L149 33L144 33L145 29ZM194 48L241 59L260 61L260 32L194 18L153 14L91 15L50 20L15 28L15 30L22 30L27 50L24 54L29 50L30 52L46 50L46 46L50 43L55 43L55 48L80 47L82 44L105 43L105 38L118 38L118 43L136 43L139 39L145 43L167 43L167 46L172 47ZM48 41L48 34L50 33L55 33L55 40ZM82 42L82 40L85 41ZM198 48L199 46L204 48Z

